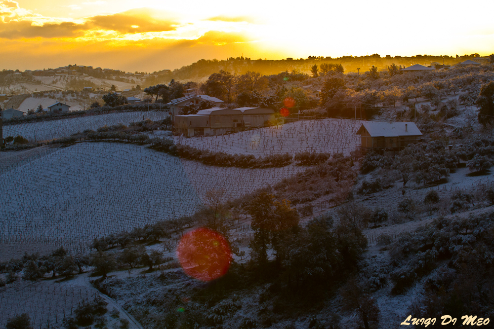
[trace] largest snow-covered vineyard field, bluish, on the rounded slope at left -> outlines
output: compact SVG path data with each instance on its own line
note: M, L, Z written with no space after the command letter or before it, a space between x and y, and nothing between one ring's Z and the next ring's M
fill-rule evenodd
M208 190L238 198L301 170L218 168L143 146L79 143L0 176L0 242L84 250L95 237L192 215Z

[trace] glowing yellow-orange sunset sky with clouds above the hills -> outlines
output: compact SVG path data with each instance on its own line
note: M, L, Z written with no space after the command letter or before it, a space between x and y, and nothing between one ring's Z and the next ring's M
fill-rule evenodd
M489 55L494 1L0 0L0 69L154 72L200 59Z

